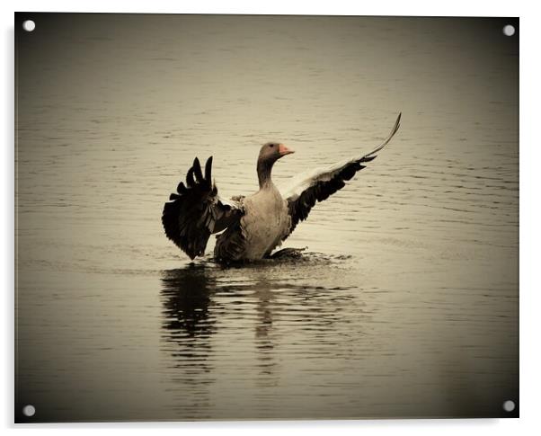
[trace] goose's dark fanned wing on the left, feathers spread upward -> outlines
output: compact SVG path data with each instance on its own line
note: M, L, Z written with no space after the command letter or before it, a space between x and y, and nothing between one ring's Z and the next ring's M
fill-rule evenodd
M164 204L162 224L165 235L191 259L204 254L208 237L221 232L244 214L241 200L223 200L212 182L212 156L201 172L199 159L193 161L186 185L180 182L177 193Z

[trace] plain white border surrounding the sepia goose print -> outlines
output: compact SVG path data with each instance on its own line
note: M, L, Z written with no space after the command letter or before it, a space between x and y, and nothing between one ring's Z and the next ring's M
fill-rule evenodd
M540 243L541 217L537 206L540 195L539 174L541 149L537 135L537 115L541 102L539 53L541 22L538 2L519 1L462 1L428 2L418 0L374 2L308 2L268 0L249 2L228 0L207 1L130 1L125 3L93 0L83 2L56 1L4 1L2 30L4 35L2 86L5 132L3 147L3 186L0 190L4 206L2 214L2 277L4 300L2 325L4 330L4 359L0 360L4 383L0 396L1 422L13 432L13 12L116 12L116 13L288 13L288 14L352 14L352 15L451 15L451 16L519 16L520 17L520 419L509 420L395 420L395 421L324 421L324 422L234 422L234 423L99 423L99 424L47 424L17 426L19 433L38 428L46 434L57 432L115 432L120 434L146 434L150 429L178 435L179 432L227 435L275 434L277 432L310 432L327 434L334 430L341 434L377 432L404 435L452 434L457 432L478 435L538 434L537 405L539 401L539 339L541 331L537 312L540 307L536 248Z

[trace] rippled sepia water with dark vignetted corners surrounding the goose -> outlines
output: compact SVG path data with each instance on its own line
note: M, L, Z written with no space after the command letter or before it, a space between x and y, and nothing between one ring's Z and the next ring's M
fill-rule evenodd
M17 13L16 420L518 416L508 23ZM223 269L165 238L194 156L247 194L279 140L284 186L399 111L288 238L301 259Z

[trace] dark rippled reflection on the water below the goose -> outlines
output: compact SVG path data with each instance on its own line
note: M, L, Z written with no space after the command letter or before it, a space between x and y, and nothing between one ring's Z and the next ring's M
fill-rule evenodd
M173 358L176 371L171 381L181 387L182 396L191 389L191 396L207 397L205 384L231 377L219 375L217 365L224 357L234 378L252 360L250 372L243 372L244 380L272 389L287 372L283 359L288 354L309 348L316 359L339 336L355 334L341 329L348 324L344 310L351 307L359 289L321 286L333 276L332 271L340 274L333 262L337 259L304 254L299 259L255 262L244 268L224 269L202 262L164 271L162 327L168 343L164 351ZM324 280L317 281L322 274ZM370 317L362 305L357 315ZM335 339L327 337L333 329ZM240 344L237 354L235 347Z

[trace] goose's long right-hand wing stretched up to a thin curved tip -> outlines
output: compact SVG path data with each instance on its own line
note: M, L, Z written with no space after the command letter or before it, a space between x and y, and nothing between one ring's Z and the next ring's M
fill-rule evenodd
M334 192L345 186L345 181L350 180L359 170L366 168L365 163L376 158L376 154L395 136L400 127L398 114L395 126L391 133L379 146L362 157L354 157L327 168L316 168L306 173L298 174L288 189L283 192L282 197L288 200L289 215L291 216L291 227L288 236L293 232L299 221L308 218L310 210L314 207L315 201L323 201L329 198ZM286 237L288 237L286 236Z

